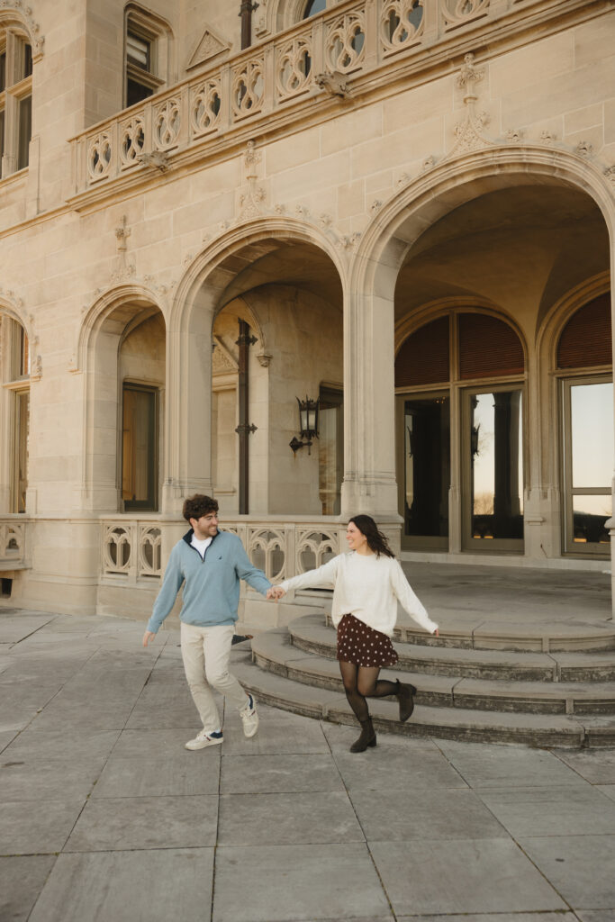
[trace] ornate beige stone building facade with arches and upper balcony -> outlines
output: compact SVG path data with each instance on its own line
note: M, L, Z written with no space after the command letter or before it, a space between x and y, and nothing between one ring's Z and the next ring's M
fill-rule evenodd
M194 491L609 568L615 4L250 6L0 0L0 605L145 616Z

